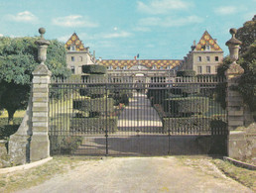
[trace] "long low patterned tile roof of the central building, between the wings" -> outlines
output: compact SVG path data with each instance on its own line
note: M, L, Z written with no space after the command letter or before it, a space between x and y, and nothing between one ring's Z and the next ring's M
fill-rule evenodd
M168 66L170 66L170 69L180 65L182 60L179 59L103 59L101 61L97 60L97 63L104 66L112 66L114 69L117 67L123 68L124 66L127 67L127 69L131 68L134 65L144 65L148 68L152 68L153 66L156 66L157 69L160 69L163 67L163 69L166 69Z

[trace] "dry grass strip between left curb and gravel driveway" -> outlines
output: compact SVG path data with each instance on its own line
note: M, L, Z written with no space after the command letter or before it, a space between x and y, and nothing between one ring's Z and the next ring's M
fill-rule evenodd
M45 182L57 174L63 174L69 169L84 163L84 161L95 159L99 158L55 156L53 160L32 169L0 174L0 192L8 193L28 189Z

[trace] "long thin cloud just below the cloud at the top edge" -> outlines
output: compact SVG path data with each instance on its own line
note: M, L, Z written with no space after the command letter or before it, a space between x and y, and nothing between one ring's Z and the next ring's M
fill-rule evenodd
M179 26L187 26L191 24L201 23L203 21L202 18L198 16L188 16L186 18L159 18L159 17L149 17L142 18L139 20L140 26L160 26L160 27L179 27Z

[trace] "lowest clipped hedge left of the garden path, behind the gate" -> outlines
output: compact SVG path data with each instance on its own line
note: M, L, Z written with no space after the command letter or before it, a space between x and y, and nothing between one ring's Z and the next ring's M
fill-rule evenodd
M81 134L105 134L117 131L117 118L72 118L70 132Z

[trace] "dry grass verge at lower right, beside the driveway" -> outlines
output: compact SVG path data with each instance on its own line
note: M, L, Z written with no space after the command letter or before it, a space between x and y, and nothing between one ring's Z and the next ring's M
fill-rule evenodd
M228 177L256 192L256 171L237 167L228 161L213 159L212 162Z

